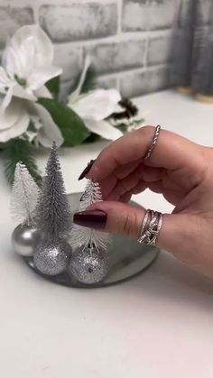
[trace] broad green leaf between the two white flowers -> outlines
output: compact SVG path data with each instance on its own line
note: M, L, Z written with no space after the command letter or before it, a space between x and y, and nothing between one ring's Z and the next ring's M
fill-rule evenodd
M88 138L89 132L82 119L65 104L50 98L39 98L41 104L50 113L64 137L64 146L81 144Z

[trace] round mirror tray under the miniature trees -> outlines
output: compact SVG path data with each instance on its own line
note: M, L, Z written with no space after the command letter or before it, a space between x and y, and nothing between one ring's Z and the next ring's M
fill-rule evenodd
M78 209L79 198L82 193L71 193L68 195L72 212ZM131 205L140 207L140 205L131 201ZM105 279L96 284L83 284L74 279L69 272L63 272L57 276L47 276L39 272L34 264L32 257L23 257L25 263L36 273L40 274L44 279L58 283L60 285L73 288L100 288L130 280L144 272L156 260L159 249L154 246L138 244L134 240L127 239L123 236L112 236L112 243L108 249L109 254L109 270Z

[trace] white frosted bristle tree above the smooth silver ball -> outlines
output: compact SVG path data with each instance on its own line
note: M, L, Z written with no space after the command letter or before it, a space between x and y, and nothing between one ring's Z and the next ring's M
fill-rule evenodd
M32 226L38 195L39 187L26 166L21 161L17 162L11 199L11 213L15 221Z

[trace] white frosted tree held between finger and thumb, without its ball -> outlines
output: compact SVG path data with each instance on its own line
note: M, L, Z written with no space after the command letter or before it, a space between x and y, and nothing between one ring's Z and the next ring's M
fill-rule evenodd
M88 180L86 189L80 198L79 211L84 211L87 207L99 201L102 201L99 184L92 180ZM72 227L70 244L74 250L79 247L88 247L91 251L93 248L96 248L97 251L99 251L100 249L106 249L108 241L109 236L106 233L79 225L74 225Z

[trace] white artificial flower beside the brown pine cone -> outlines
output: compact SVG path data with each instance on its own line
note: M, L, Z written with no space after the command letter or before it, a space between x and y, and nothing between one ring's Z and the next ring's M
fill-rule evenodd
M79 78L79 85L69 95L68 106L82 118L90 132L105 139L116 140L123 134L107 122L106 118L114 112L122 111L118 106L118 102L121 100L120 93L116 89L96 89L80 95L90 63L90 58L87 56Z

